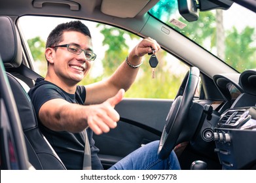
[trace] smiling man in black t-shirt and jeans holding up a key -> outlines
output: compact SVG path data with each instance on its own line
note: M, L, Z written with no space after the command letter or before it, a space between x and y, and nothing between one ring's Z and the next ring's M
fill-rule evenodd
M45 50L48 71L45 80L37 79L29 97L41 131L67 169L82 169L86 139L90 142L92 169L102 169L92 133L100 135L117 127L119 114L114 107L134 82L141 57L152 49L157 52L159 44L151 38L143 39L110 78L77 86L96 58L88 27L74 21L60 24L50 33ZM157 158L157 148L158 142L147 144L111 169L180 169L174 152L162 161ZM139 162L144 156L143 163Z

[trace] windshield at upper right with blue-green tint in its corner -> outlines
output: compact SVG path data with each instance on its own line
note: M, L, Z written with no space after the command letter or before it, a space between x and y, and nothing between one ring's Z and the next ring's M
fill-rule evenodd
M236 71L256 68L255 12L233 3L228 10L199 12L196 22L187 22L179 14L177 0L160 0L149 13Z

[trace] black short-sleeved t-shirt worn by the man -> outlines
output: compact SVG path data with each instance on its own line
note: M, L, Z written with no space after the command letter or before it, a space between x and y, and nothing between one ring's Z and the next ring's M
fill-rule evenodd
M67 169L82 169L85 144L84 133L70 133L68 131L52 131L51 129L48 129L39 120L39 109L46 103L46 101L51 99L64 99L69 103L84 105L86 96L84 86L77 86L75 94L70 94L51 82L45 81L42 78L37 78L35 87L29 90L28 95L35 108L35 113L37 114L37 119L39 121L39 128L60 159L62 159L65 167ZM97 155L99 149L96 148L94 139L92 139L93 131L90 128L86 129L86 131L92 154L92 169L102 169L103 167Z

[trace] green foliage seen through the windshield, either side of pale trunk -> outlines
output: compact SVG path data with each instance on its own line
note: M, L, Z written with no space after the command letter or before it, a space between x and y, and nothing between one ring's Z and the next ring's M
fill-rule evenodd
M179 21L186 22L183 18L179 18ZM200 12L198 21L190 22L184 29L174 28L204 48L207 48L206 40L209 39L212 52L217 45L216 27L215 14L213 11L208 11ZM255 39L255 29L244 27L239 32L236 27L232 27L231 30L226 30L225 35L227 36L223 42L225 44L224 61L240 73L246 69L256 68L256 47L251 45Z

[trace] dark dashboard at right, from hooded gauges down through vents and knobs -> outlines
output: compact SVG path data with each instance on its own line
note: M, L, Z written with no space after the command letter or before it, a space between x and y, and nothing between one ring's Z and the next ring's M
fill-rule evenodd
M256 169L256 69L213 77L226 99L213 129L223 169Z

